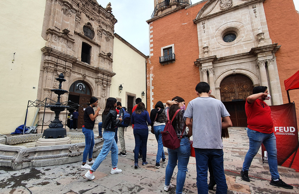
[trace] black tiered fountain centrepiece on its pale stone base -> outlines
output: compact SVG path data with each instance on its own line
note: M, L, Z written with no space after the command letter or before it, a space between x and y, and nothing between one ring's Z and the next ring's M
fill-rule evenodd
M58 95L57 103L53 105L47 105L47 108L55 112L55 119L49 124L49 128L44 131L42 138L39 138L36 141L35 146L45 146L45 145L62 145L70 144L71 139L66 136L66 129L63 128L62 121L59 120L60 112L64 111L68 106L62 105L60 102L60 95L68 93L67 90L62 90L62 82L66 81L64 79L63 73L60 73L58 78L55 78L59 81L59 88L51 90Z

